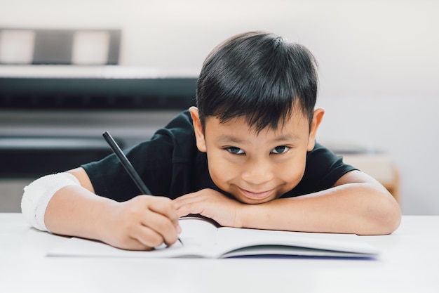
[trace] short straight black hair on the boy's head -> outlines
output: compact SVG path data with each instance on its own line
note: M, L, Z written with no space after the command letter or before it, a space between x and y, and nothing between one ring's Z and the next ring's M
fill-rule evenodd
M311 125L316 105L317 63L301 44L269 32L245 32L215 47L203 63L196 105L224 123L246 117L256 131L278 128L299 106Z

